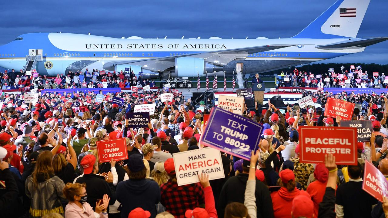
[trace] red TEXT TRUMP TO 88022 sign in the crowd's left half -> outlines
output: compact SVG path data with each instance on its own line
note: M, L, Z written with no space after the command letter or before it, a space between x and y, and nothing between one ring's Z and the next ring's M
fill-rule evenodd
M99 141L97 142L97 151L101 163L109 162L112 158L115 161L128 159L125 138Z

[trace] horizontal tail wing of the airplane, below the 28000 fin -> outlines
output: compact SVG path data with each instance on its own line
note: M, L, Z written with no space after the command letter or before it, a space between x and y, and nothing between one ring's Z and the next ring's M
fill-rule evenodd
M351 49L351 48L362 48L369 45L373 45L379 42L388 40L388 37L376 37L371 39L349 39L342 42L337 42L327 45L317 45L315 48L326 49L326 50L341 50L341 49Z

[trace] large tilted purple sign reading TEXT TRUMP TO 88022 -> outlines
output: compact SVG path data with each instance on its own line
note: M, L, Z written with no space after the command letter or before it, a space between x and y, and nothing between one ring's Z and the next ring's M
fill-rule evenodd
M249 160L257 150L263 126L240 115L214 107L200 143Z

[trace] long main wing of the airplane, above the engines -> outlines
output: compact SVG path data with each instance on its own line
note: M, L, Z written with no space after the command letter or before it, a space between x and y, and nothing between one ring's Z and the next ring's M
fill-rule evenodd
M263 46L256 46L256 47L219 50L219 51L213 51L213 52L198 52L194 54L156 57L156 58L141 59L141 60L134 60L134 61L111 61L104 64L103 67L104 69L111 69L112 67L121 65L121 64L135 64L137 66L142 66L146 69L163 71L167 68L173 67L175 65L175 58L177 57L196 57L196 58L202 58L206 62L225 65L235 59L245 59L248 54L265 52L269 50L275 50L275 49L286 48L291 46L295 46L295 45L283 45L283 44L263 45Z

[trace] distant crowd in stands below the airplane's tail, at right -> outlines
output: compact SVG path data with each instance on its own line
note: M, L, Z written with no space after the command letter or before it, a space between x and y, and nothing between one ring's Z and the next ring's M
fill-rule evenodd
M362 72L362 69L350 69L335 73L329 69L327 73L313 73L298 71L281 73L282 81L279 86L284 87L310 87L310 88L388 88L388 78L384 73Z

